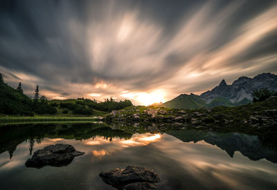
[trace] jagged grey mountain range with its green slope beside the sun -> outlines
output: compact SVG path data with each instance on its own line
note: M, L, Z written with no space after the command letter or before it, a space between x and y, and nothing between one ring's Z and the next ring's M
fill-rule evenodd
M179 95L162 106L166 108L213 108L215 106L239 106L252 102L252 92L255 89L268 88L277 91L277 75L262 73L256 77L240 77L233 84L226 84L225 80L211 91L202 95ZM196 101L196 102L195 102Z

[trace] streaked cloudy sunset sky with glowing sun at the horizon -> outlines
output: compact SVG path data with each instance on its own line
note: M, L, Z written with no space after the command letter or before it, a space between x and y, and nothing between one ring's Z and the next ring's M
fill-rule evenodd
M0 0L0 73L48 99L199 95L277 73L277 2Z

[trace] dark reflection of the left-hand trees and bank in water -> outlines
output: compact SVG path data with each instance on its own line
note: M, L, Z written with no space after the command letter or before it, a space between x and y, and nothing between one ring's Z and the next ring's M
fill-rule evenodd
M0 154L8 151L10 159L21 142L29 142L29 154L33 153L35 142L41 143L45 137L52 141L62 139L87 140L102 136L111 142L113 138L129 139L132 133L112 130L105 124L20 124L0 126Z

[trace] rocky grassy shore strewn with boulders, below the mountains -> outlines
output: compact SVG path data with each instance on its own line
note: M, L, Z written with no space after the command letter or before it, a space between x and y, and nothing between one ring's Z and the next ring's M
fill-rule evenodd
M103 120L114 124L172 124L182 128L249 126L277 130L277 98L244 106L181 110L154 106L132 106L111 111Z

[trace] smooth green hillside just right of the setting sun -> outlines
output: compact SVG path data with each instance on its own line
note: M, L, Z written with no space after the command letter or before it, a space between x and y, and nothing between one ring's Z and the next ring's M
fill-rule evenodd
M195 108L202 108L206 107L206 103L204 102L199 95L186 95L182 94L178 97L175 97L175 99L172 99L166 103L164 103L162 106L166 108L187 108L187 109L195 109Z

